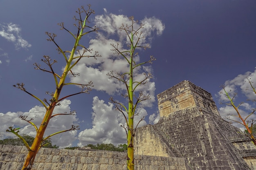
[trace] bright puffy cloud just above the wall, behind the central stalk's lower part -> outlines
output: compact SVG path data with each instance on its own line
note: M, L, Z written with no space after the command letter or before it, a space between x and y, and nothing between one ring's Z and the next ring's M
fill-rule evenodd
M99 97L93 98L92 104L92 128L81 131L78 135L78 146L97 143L124 144L126 141L126 132L121 125L125 124L124 116L117 110L115 106ZM137 109L138 116L134 118L135 126L142 117L147 115L144 108ZM138 127L146 125L146 121L142 120Z

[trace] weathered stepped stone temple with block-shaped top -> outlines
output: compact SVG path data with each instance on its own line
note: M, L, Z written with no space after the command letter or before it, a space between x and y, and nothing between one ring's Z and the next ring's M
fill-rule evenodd
M220 117L210 93L184 80L157 100L160 119L136 130L136 155L182 157L190 170L256 170L256 146Z

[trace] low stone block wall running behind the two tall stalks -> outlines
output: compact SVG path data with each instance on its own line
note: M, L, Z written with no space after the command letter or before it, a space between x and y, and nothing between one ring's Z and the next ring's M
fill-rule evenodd
M21 170L25 146L0 145L0 170ZM136 155L136 170L187 170L183 158ZM126 170L126 153L41 148L32 170Z

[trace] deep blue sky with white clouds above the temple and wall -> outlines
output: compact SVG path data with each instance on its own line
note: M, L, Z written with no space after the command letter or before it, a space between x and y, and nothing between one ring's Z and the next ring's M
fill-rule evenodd
M13 5L15 4L15 5ZM237 93L236 104L243 115L255 108L252 91L246 91L246 77L256 82L256 1L255 0L0 0L0 140L10 137L5 132L9 126L20 127L20 133L35 135L35 130L20 115L33 118L40 125L45 109L36 99L14 88L23 82L30 93L41 99L54 91L54 79L48 73L35 70L34 63L43 65L43 55L58 62L54 70L61 73L65 61L52 42L47 42L45 31L57 35L56 42L63 50L71 50L74 39L57 23L76 33L73 26L77 8L91 4L95 11L90 24L99 28L98 33L83 37L81 44L98 51L101 57L84 58L74 67L80 76L68 77L67 82L86 83L92 81L90 94L79 94L67 98L56 106L54 113L75 115L58 116L51 119L45 136L56 131L79 125L80 130L65 132L51 137L52 143L60 148L85 146L97 143L126 143L126 134L120 126L124 117L115 110L110 97L126 102L120 97L124 86L106 75L110 71L128 68L124 59L113 55L110 43L119 42L127 49L124 32L119 31L122 23L129 24L130 16L145 24L142 32L150 49L138 50L136 60L144 62L153 55L153 64L145 64L135 71L135 78L150 72L153 78L139 90L150 95L151 100L142 102L137 109L139 126L155 124L159 119L157 94L189 80L211 93L222 117L233 114L234 109L221 95L221 85ZM254 84L256 86L256 83ZM79 92L78 86L63 89L62 95ZM253 115L252 118L255 118ZM242 128L238 123L234 126Z

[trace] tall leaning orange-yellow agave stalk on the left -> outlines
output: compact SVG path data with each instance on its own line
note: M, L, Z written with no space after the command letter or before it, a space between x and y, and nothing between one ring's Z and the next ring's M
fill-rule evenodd
M63 72L61 73L61 75L57 74L54 71L53 67L52 67L52 65L56 64L57 61L52 60L51 57L49 57L49 56L43 56L44 59L42 59L42 61L45 64L47 64L47 66L49 66L49 70L47 70L45 68L41 68L41 65L38 64L38 63L34 64L35 69L41 70L41 71L46 72L46 73L50 73L53 76L55 87L56 87L55 91L53 93L46 92L46 94L49 94L51 96L51 98L49 100L40 99L39 97L29 93L26 90L25 85L23 83L18 83L17 85L14 85L14 87L19 88L20 90L24 91L25 93L27 93L27 94L31 95L32 97L34 97L35 99L37 99L45 107L45 110L46 110L44 118L42 120L42 123L40 124L39 127L37 127L36 124L34 124L32 122L32 119L27 119L27 117L23 116L23 115L20 116L21 119L27 121L29 124L34 126L34 128L36 130L36 137L35 137L35 139L33 141L33 144L31 146L29 146L27 141L22 136L20 136L18 134L18 132L19 132L18 129L19 128L9 127L9 130L7 130L7 131L12 132L15 135L17 135L24 142L25 146L27 147L28 154L27 154L27 158L25 159L22 170L30 170L31 169L31 167L34 163L34 159L36 157L36 154L37 154L38 150L43 146L42 143L44 141L46 141L47 139L49 139L50 137L52 137L53 135L56 135L58 133L67 132L69 130L79 129L78 126L72 125L72 127L68 130L55 132L52 135L44 137L45 130L46 130L47 125L48 125L51 118L53 118L57 115L74 115L74 113L75 113L73 111L73 112L70 112L70 113L58 113L58 114L53 115L53 111L54 111L55 106L59 105L59 103L63 99L66 99L67 97L77 95L77 94L81 94L81 93L88 93L91 90L90 86L92 86L92 82L88 82L88 84L76 84L76 83L67 83L65 81L67 75L69 75L69 74L72 74L73 76L77 75L76 73L73 73L71 71L71 69L79 62L79 60L81 60L81 58L99 56L99 54L97 52L95 52L92 55L85 55L86 52L92 53L92 49L87 49L87 48L85 48L85 46L79 44L79 41L81 40L81 38L84 35L97 31L96 27L91 27L91 26L88 25L88 23L89 23L88 18L90 17L91 14L94 13L94 11L90 8L90 5L88 5L87 10L84 7L81 7L80 9L78 9L78 11L76 11L76 13L78 13L78 17L74 16L74 20L76 22L76 24L74 24L74 26L77 28L76 33L72 33L71 31L69 31L64 26L63 22L58 24L59 26L61 26L61 29L64 29L65 31L70 33L72 38L74 38L74 46L72 47L71 50L61 49L61 47L55 41L56 34L46 32L46 35L48 35L48 37L49 37L49 38L47 38L47 40L53 42L57 46L58 53L62 54L63 59L65 60L66 65L63 68ZM84 19L83 19L83 15L85 15ZM82 47L83 51L79 51L78 50L79 47ZM76 51L78 51L79 56L75 56ZM45 82L45 83L48 83L48 82ZM70 95L67 95L67 96L64 96L64 97L60 97L61 91L67 85L79 85L79 86L82 87L82 90L79 91L78 93L74 93L74 94L70 94Z

